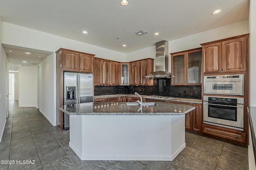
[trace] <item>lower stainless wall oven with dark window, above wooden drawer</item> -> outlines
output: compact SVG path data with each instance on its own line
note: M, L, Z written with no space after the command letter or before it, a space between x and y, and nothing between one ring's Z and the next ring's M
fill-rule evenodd
M244 98L204 96L204 123L244 130Z

